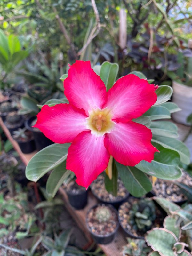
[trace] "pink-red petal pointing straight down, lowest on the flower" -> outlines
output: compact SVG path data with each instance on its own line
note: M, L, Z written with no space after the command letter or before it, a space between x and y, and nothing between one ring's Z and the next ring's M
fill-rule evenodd
M104 137L81 132L68 149L66 169L75 172L77 184L88 188L109 162Z

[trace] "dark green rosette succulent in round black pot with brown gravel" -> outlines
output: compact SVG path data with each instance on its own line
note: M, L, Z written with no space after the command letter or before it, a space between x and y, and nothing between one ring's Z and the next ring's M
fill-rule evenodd
M120 205L118 219L121 227L132 238L144 239L145 233L152 228L156 215L160 215L149 198L129 200ZM158 218L157 218L158 219Z

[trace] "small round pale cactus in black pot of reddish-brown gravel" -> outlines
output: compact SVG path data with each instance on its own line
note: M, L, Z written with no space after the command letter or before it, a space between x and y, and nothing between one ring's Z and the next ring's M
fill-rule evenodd
M110 204L97 204L87 212L86 225L98 244L109 244L119 228L117 211Z

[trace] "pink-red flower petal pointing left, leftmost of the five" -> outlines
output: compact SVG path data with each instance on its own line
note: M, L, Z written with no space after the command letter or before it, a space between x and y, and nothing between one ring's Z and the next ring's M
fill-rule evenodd
M85 118L87 116L84 110L72 104L61 103L53 107L44 105L37 114L37 122L33 127L39 128L55 143L72 142L80 132L89 131Z

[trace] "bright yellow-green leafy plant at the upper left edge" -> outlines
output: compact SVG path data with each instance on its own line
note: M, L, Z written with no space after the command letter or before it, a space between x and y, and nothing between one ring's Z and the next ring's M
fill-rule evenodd
M1 89L6 85L5 78L8 74L27 56L28 51L22 50L18 36L13 34L6 36L3 30L0 29Z

